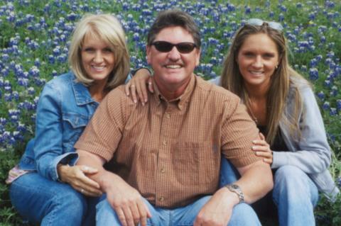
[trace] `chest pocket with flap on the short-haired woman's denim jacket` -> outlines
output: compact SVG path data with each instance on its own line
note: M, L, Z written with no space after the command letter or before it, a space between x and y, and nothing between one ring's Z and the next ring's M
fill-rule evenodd
M79 113L63 113L63 145L67 149L73 149L89 120L89 116Z

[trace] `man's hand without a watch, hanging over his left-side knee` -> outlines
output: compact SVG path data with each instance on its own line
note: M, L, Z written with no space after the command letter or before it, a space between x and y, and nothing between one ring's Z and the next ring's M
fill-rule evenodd
M141 226L146 226L147 217L151 217L151 213L141 194L119 176L111 177L111 186L106 188L107 200L117 213L121 224L134 226L141 223Z

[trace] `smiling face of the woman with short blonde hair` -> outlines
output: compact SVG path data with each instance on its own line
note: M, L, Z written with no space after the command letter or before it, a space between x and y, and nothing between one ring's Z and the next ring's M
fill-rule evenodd
M106 83L115 66L114 52L109 45L94 35L85 35L81 55L87 77L96 83Z

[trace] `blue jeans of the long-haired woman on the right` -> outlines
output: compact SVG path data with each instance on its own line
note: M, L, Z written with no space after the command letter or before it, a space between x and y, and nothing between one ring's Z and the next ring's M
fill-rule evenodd
M220 185L238 178L234 166L222 159ZM318 188L301 169L290 165L278 168L272 198L278 208L279 225L315 225L313 209L318 203Z

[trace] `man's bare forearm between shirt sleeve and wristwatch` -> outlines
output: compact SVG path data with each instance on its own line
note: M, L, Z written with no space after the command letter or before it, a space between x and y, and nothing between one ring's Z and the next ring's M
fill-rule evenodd
M254 203L274 187L269 164L259 161L237 169L242 177L236 183L242 189L246 203Z

